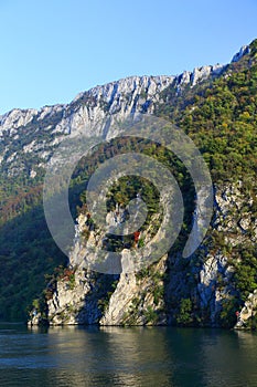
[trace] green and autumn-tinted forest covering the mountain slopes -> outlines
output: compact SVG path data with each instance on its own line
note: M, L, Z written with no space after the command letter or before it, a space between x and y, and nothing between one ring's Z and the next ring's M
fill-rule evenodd
M181 262L178 254L192 226L194 196L192 180L174 155L165 153L161 147L157 149L149 143L140 145L142 151L169 165L179 181L186 209L183 229L161 274L162 287L159 285L156 287L156 301L151 308L148 307L146 312L148 318L144 323L158 323L159 314L154 314L154 305L159 307L162 299L164 306L162 305L161 318L165 323L207 325L215 322L222 326L232 326L235 323L235 311L244 305L249 292L257 289L257 41L249 45L249 50L238 61L224 66L219 73L210 74L195 85L189 83L178 87L176 82L176 79L171 79L169 84L157 93L158 98L156 96L153 98L149 92L143 94L140 90L137 101L142 98L142 103L138 108L146 112L150 108L150 113L154 112L157 116L176 124L193 139L210 167L216 194L215 211L203 247L191 261ZM128 103L129 94L126 98ZM66 108L66 112L72 114L73 109L90 104L98 102L93 97L81 97ZM100 108L105 114L111 114L110 105L106 102L101 101ZM60 279L60 270L63 273L63 269L60 269L53 274L54 268L67 264L67 258L51 238L42 207L45 161L57 144L54 139L62 139L68 135L68 130L55 130L63 117L61 109L62 107L54 114L42 117L41 121L35 114L29 123L19 126L19 136L12 137L11 140L11 128L9 132L2 132L0 150L6 153L2 157L0 177L1 320L24 320L26 307L34 299L42 300L41 293L50 279ZM39 144L36 151L34 149L24 151L29 144L28 138ZM81 181L86 185L92 171L105 159L118 153L137 150L137 147L138 145L131 143L113 142L98 147L90 159L81 161L71 185L69 197L74 218L79 212L86 213L83 206L85 186L83 187ZM47 156L44 155L45 150ZM109 197L109 210L114 210L116 205L126 206L137 192L138 186L142 185L141 192L149 203L151 217L141 231L149 230L151 222L154 229L154 222L158 226L160 221L154 218L159 210L156 205L158 194L146 181L142 184L138 179L132 179L129 185L128 189L128 180L124 179L114 187ZM226 208L225 201L228 203ZM85 230L85 237L88 236L89 232ZM117 249L122 248L118 240L113 239L111 243ZM143 243L143 240L140 243ZM224 272L217 270L216 276L205 283L210 299L206 295L204 303L197 292L201 292L200 278L206 273L204 265L210 257L216 261L221 257L225 258L226 269ZM232 273L229 276L226 272L228 266L233 268L229 269ZM160 280L157 279L154 266L139 273L139 289L143 279L151 276L157 283ZM183 280L179 284L174 281L175 278ZM113 280L117 285L117 279ZM100 278L97 281L104 280ZM229 286L226 281L229 281ZM108 284L106 293L101 294L101 305L104 303L105 308L116 285L110 284L109 289ZM219 294L218 308L215 308L213 304L217 300L215 293L217 290L223 295ZM132 312L126 317L127 323L137 323L135 316L142 296L140 291L135 295L133 308L130 310ZM216 312L212 321L211 314L214 310ZM164 318L163 315L168 317Z

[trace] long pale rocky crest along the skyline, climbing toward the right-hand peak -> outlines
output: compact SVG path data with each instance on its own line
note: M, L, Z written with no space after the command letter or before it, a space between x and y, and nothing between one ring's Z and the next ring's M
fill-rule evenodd
M233 56L232 63L239 61L247 52L249 46L243 46ZM152 114L154 105L164 102L160 98L165 88L172 87L175 94L180 94L186 86L194 87L210 77L221 75L227 66L206 65L195 67L192 72L184 71L179 75L129 76L78 93L69 104L46 105L41 109L14 108L0 116L0 139L7 144L6 149L0 148L0 168L2 164L6 164L8 169L13 163L15 165L17 155L11 154L10 140L19 140L19 128L23 128L28 135L28 139L23 139L24 151L35 151L41 159L39 165L43 166L51 157L49 149L60 143L63 136L85 128L88 128L90 134L90 125L96 116L100 121L107 114L118 113L121 118L136 111ZM46 122L50 122L49 126L45 125ZM45 138L41 144L34 144L33 138L36 138L39 130ZM54 144L51 136L55 137ZM19 172L19 167L14 169ZM36 170L31 169L30 175L35 176Z

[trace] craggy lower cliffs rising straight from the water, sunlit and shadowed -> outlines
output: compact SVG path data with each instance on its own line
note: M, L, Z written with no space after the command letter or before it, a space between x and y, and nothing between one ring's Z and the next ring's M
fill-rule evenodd
M233 302L238 297L238 289L234 278L240 257L233 257L232 252L248 244L249 239L253 245L256 243L257 221L251 218L255 200L240 181L216 187L211 238L218 238L218 243L207 238L201 251L190 259L183 259L180 252L170 253L144 270L120 275L96 275L86 270L86 244L103 245L105 234L90 229L87 217L81 215L69 258L74 280L71 285L71 279L64 275L55 282L47 300L49 323L203 326L236 323ZM109 222L117 221L115 212L107 217ZM86 242L85 231L89 233ZM146 231L146 241L148 237ZM121 262L126 251L121 251ZM183 300L190 300L185 318ZM237 327L247 326L247 320L255 314L256 292L246 301ZM39 316L36 313L30 324L38 324Z

